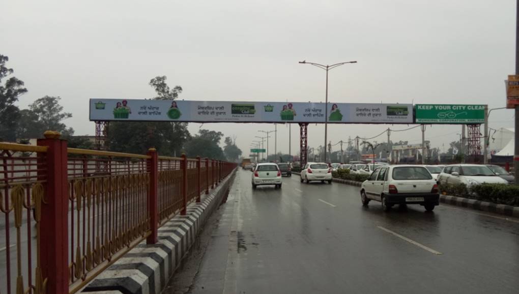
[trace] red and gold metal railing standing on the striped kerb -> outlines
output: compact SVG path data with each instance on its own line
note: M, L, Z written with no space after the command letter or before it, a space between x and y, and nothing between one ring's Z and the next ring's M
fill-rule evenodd
M75 293L236 164L0 143L0 293Z

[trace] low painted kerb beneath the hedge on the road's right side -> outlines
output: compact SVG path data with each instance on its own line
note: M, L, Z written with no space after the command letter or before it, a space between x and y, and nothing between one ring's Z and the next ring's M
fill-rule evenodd
M299 175L299 173L293 172L293 174ZM343 179L333 178L333 181L336 183L346 184L350 186L360 187L362 182L349 181ZM456 205L465 208L471 208L474 210L487 211L507 216L519 217L519 207L514 207L511 205L505 204L496 204L492 202L480 201L475 199L449 196L449 195L440 195L440 202Z

